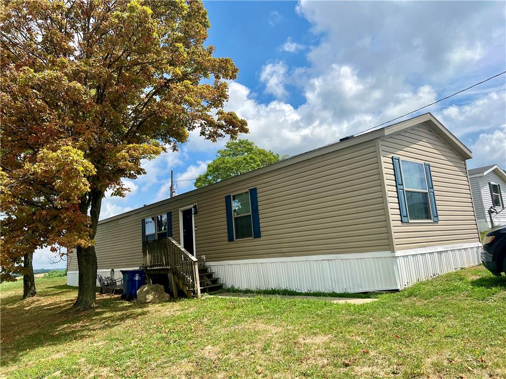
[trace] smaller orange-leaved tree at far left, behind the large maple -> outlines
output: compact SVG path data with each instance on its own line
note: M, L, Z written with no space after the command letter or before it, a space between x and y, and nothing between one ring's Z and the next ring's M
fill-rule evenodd
M82 151L63 146L54 152L41 148L18 149L16 136L2 133L0 168L0 281L23 275L23 299L36 295L33 252L47 245L72 248L90 243L82 239L89 217L79 212L79 202L89 191L87 175L93 165ZM13 140L14 139L14 140ZM52 246L52 250L56 249Z

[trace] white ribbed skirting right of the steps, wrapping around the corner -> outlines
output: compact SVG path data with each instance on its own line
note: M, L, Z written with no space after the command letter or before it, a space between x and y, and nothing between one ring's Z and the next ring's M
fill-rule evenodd
M320 255L207 262L226 287L299 292L401 290L418 281L480 263L480 243L393 254Z

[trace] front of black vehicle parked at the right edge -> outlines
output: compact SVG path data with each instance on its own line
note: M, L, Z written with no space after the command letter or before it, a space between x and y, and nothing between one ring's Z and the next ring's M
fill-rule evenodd
M481 261L494 275L506 272L506 226L490 230L483 239Z

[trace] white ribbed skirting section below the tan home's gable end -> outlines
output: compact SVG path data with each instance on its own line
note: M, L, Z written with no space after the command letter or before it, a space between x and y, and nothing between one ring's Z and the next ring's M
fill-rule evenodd
M433 248L433 251L422 251L418 254L409 251L399 252L404 253L396 257L399 290L446 272L480 264L481 244L448 248L446 250Z

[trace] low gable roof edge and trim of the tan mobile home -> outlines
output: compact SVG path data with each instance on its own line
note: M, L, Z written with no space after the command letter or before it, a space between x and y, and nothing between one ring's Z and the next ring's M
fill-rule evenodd
M212 189L220 188L224 185L229 185L234 182L237 182L239 180L243 180L252 176L260 175L263 173L267 173L273 170L277 170L282 167L286 167L289 165L292 165L294 163L298 163L301 161L305 161L307 159L311 159L314 157L318 157L324 154L332 153L334 151L338 151L341 149L349 148L354 145L361 144L366 141L370 141L372 139L385 137L388 135L392 135L395 133L399 133L402 131L405 131L407 129L410 129L412 127L415 127L417 125L424 124L429 129L431 129L436 135L438 135L441 139L443 139L450 147L453 148L455 152L457 152L463 159L471 159L473 158L473 154L471 153L471 150L469 150L466 145L462 144L457 137L455 137L441 122L439 122L436 117L434 117L431 113L425 113L423 115L419 115L410 119L407 119L405 121L400 121L395 124L387 125L379 129L373 129L368 132L362 132L357 133L355 135L351 135L345 138L341 138L338 141L335 141L331 144L324 145L322 147L307 151L305 153L297 154L292 157L289 157L287 159L283 159L282 161L272 163L268 166L264 166L261 168L257 168L256 170L245 172L244 174L232 176L228 179L224 179L221 181L218 181L213 184L206 185L204 187L193 189L192 191L185 192L181 195L177 195L173 198L168 198L164 200L160 200L156 203L145 205L144 207L133 209L131 211L111 216L109 218L105 218L103 220L100 220L99 223L110 221L116 218L123 217L128 214L133 214L136 212L139 212L141 209L145 210L147 208L156 207L162 204L169 204L173 202L175 199L183 199L188 196L192 196L196 193L204 193L207 191L211 191Z

